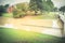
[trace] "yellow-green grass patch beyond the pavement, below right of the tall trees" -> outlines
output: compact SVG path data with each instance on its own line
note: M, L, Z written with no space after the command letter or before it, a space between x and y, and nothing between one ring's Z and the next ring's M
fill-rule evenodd
M34 16L32 19L55 19L55 14L43 13L42 15Z

